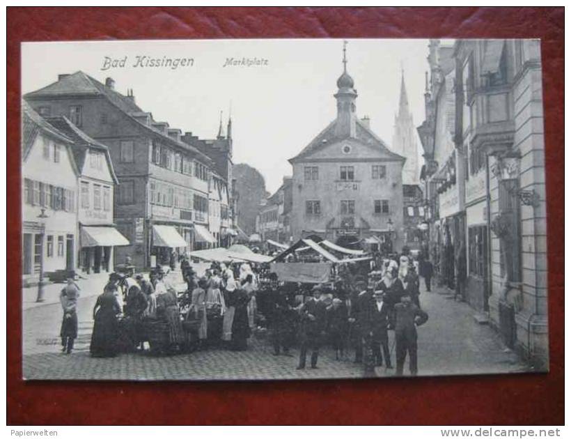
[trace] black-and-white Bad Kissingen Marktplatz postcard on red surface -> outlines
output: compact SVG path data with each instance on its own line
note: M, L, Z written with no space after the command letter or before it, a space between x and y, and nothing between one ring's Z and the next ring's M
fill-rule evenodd
M24 379L547 371L540 60L23 43Z

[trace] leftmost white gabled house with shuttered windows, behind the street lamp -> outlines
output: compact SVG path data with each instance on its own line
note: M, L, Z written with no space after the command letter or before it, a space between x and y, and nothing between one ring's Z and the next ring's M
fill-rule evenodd
M65 277L76 267L73 141L22 102L22 279Z

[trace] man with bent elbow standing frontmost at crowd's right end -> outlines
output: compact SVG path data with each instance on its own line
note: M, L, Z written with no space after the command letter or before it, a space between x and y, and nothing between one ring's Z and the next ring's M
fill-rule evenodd
M418 373L416 360L416 326L423 325L428 320L428 314L414 305L410 295L400 298L395 305L395 339L396 339L396 375L402 376L407 353L409 355L409 369L412 376Z

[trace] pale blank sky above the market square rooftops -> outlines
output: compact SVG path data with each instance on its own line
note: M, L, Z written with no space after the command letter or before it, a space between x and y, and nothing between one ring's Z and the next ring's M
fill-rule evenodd
M401 68L415 126L424 119L428 40L347 41L357 114L370 117L372 130L390 148ZM22 93L77 70L101 82L112 77L116 90L127 94L132 88L137 105L156 121L201 138L215 137L220 111L225 127L231 111L234 162L256 167L274 192L292 173L288 159L336 117L342 49L341 39L24 43ZM179 61L177 68L151 65L166 59L194 61Z

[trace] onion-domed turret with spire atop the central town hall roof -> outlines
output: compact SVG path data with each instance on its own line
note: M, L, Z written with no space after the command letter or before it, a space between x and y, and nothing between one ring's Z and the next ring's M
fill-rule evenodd
M336 137L355 137L357 90L354 89L353 78L347 73L347 41L343 41L343 73L337 79L337 88Z

